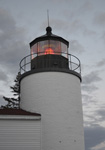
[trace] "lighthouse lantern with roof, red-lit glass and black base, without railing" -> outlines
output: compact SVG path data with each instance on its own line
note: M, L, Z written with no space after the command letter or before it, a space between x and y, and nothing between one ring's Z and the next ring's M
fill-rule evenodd
M52 28L46 28L46 34L30 43L31 69L67 68L69 42L52 34Z

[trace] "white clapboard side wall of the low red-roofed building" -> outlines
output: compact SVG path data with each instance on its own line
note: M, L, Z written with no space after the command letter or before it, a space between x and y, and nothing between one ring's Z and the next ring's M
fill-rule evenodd
M32 118L1 115L0 150L40 150L41 121Z

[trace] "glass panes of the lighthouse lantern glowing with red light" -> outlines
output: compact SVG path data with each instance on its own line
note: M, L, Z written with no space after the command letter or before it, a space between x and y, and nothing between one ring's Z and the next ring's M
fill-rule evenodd
M62 55L67 58L67 45L55 40L45 40L34 44L31 47L32 59L41 55Z

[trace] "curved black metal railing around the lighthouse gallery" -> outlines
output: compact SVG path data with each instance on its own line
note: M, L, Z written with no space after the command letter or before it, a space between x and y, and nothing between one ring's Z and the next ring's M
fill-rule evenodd
M31 70L31 62L32 62L32 57L37 57L37 56L42 56L42 55L45 55L43 52L41 53L34 53L34 54L30 54L30 55L27 55L25 56L21 61L20 61L20 73L23 74L25 72L28 72ZM53 54L51 54L53 55ZM80 63L80 60L72 55L72 54L68 54L68 53L54 53L54 55L60 55L60 56L63 56L65 58L68 59L68 69L69 70L72 70L72 71L75 71L79 74L81 74L81 63ZM60 60L58 60L60 61Z

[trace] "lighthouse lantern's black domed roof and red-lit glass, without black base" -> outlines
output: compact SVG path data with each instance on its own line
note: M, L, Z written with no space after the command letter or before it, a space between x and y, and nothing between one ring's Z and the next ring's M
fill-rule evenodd
M67 58L69 42L52 34L52 28L46 28L46 34L30 43L32 59L36 56L55 54Z

